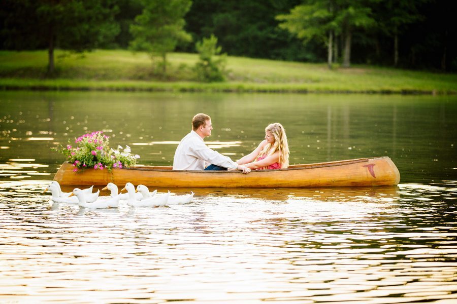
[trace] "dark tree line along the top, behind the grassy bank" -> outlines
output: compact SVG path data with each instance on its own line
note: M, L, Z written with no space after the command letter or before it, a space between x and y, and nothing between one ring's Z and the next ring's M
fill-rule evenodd
M132 48L138 16L161 18L144 11L157 2L3 0L1 48L47 49L50 66L55 48ZM183 28L192 43L173 47L196 52L196 42L214 35L227 55L457 71L453 7L451 0L193 0Z

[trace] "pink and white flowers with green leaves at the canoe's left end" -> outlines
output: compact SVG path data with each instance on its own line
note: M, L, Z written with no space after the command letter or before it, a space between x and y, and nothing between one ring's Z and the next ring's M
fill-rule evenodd
M95 131L76 138L76 147L72 146L69 140L67 146L60 145L58 148L51 149L67 156L68 161L75 167L74 172L86 168L111 171L113 168L130 167L137 164L140 156L132 155L128 145L125 148L118 145L114 150L109 147L108 143L109 136L104 135L102 131Z

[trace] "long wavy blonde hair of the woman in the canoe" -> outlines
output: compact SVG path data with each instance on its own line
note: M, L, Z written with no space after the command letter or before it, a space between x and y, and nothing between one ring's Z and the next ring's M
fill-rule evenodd
M274 123L265 128L265 132L267 131L271 132L274 136L275 142L273 145L271 143L267 144L264 149L260 151L255 160L266 154L269 156L276 151L279 151L279 164L281 164L281 169L289 167L289 145L287 143L284 127L280 123Z

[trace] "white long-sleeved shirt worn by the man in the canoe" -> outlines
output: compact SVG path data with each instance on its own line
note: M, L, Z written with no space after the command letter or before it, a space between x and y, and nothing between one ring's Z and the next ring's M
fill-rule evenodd
M206 164L236 169L238 165L229 157L210 149L195 131L181 139L175 151L173 170L204 170Z

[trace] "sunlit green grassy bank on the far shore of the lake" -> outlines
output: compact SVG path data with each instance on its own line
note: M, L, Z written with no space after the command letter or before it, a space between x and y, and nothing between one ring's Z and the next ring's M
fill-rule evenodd
M228 57L223 83L194 81L198 55L169 54L167 73L154 71L145 53L97 50L84 56L56 52L56 74L46 77L46 51L0 52L0 88L4 90L122 90L222 92L457 93L457 74L356 65Z

